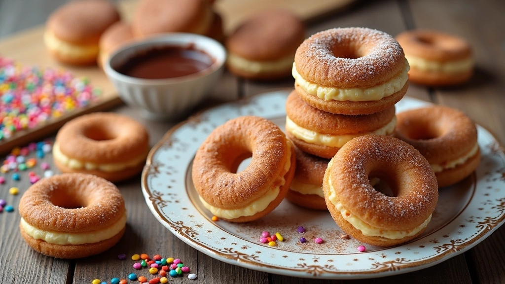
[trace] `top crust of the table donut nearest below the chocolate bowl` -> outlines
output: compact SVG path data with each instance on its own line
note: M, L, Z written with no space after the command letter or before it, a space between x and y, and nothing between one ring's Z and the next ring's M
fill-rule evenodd
M127 163L147 156L149 149L145 127L115 113L75 118L58 131L55 143L67 157L95 164Z

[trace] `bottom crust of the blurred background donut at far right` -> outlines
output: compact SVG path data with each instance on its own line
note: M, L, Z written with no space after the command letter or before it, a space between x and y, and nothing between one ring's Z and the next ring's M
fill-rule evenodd
M412 67L409 71L409 81L428 86L458 85L468 81L473 75L473 69L456 73L426 72Z

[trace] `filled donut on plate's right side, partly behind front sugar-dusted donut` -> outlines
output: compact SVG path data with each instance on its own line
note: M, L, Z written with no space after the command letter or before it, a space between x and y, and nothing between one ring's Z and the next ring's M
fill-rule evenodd
M455 184L480 163L475 123L447 107L427 107L398 114L396 137L414 146L428 160L438 186Z

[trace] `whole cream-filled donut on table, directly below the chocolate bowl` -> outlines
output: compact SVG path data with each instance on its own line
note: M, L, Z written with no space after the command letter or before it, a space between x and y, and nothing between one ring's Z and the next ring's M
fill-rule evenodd
M149 152L145 128L114 113L93 113L67 122L56 135L55 165L62 172L120 181L142 171Z

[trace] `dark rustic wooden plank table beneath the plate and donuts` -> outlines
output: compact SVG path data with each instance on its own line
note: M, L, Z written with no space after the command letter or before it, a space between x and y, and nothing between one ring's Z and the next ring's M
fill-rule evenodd
M65 0L0 0L0 37L41 24ZM505 141L505 2L495 0L384 0L359 2L344 12L308 23L308 35L333 27L364 26L396 35L412 28L433 28L469 40L477 70L472 80L456 88L426 88L412 84L407 96L458 108ZM5 56L9 56L8 54ZM258 83L225 74L214 96L233 100L275 87L289 87L292 79ZM142 120L126 106L113 110L138 119L147 127L154 145L173 124ZM49 137L52 138L52 137ZM46 156L51 161L51 155ZM41 170L37 169L41 174ZM8 194L17 186L20 195ZM28 178L0 186L0 198L17 207L29 187ZM0 214L0 283L90 283L94 278L126 277L131 261L119 261L126 253L160 253L180 258L198 275L194 283L326 283L269 274L222 263L192 249L160 224L147 208L140 191L140 176L118 184L126 201L128 224L123 239L101 255L78 260L45 257L31 250L19 233L20 216ZM373 280L331 282L388 283L498 283L505 282L505 226L470 251L430 268ZM174 283L189 283L184 278Z

